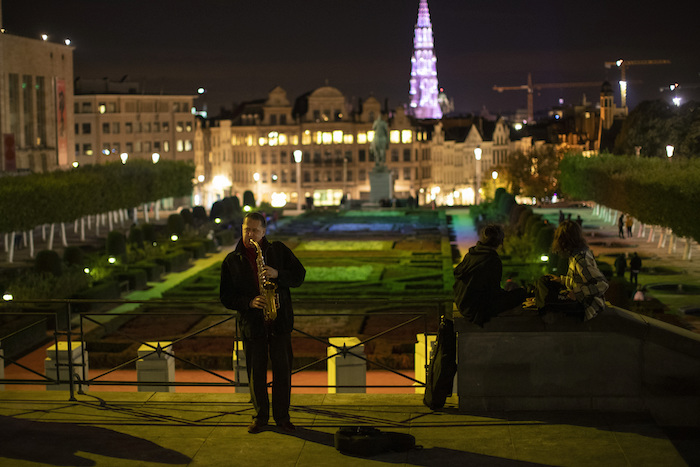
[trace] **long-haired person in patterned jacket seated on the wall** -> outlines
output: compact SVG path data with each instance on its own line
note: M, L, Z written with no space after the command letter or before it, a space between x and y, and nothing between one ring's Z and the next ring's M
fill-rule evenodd
M584 321L594 318L605 309L608 281L598 269L581 226L572 221L562 222L554 232L552 252L567 256L569 268L565 276L546 277L559 282L565 289L564 295L580 304Z

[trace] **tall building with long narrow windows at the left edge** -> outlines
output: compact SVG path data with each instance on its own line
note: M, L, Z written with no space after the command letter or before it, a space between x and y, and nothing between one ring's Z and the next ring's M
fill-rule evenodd
M72 128L73 47L0 33L0 171L67 167Z

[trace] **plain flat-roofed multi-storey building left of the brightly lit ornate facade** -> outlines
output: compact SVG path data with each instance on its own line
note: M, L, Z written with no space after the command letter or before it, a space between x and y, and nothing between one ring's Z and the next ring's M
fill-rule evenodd
M194 160L195 96L140 94L137 83L76 84L72 161ZM154 156L157 154L157 156Z

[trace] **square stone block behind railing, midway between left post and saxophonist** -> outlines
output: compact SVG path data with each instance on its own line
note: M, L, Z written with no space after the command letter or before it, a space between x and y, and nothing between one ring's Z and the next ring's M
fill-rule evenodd
M174 383L175 359L164 352L155 351L156 348L160 348L172 354L172 342L148 342L148 344L139 347L136 380L139 383ZM175 392L175 386L139 384L138 390L139 392Z

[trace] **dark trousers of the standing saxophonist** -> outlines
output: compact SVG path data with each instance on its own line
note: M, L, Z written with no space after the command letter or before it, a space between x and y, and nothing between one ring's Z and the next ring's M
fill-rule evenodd
M256 339L244 339L250 396L255 415L266 423L270 418L267 395L267 360L272 362L272 417L277 423L289 420L289 401L292 392L292 338L290 333L268 334Z

